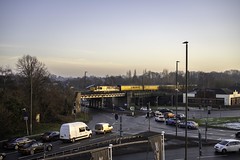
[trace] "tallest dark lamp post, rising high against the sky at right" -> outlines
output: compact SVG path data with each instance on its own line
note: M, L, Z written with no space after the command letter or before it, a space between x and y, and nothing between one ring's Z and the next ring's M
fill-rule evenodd
M185 160L187 160L187 147L188 147L188 138L187 138L187 119L188 119L188 115L187 115L187 111L188 111L188 41L185 41L183 42L183 44L186 45L186 75L185 75L185 78L186 78L186 84L185 84L185 103L186 103L186 106L185 106Z

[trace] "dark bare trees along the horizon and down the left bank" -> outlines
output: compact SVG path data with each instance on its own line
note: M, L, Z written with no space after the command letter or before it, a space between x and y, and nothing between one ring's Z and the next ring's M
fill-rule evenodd
M0 137L4 139L16 133L24 134L26 126L24 109L33 127L35 117L40 123L62 123L72 120L75 91L87 90L91 85L165 85L176 83L176 72L164 69L162 72L136 70L126 75L106 77L60 77L52 75L44 63L34 56L24 55L16 63L16 73L9 67L0 67ZM61 80L59 80L61 79ZM178 72L178 84L184 85L185 73ZM240 71L189 72L189 84L198 88L229 88L240 91ZM32 108L32 109L31 109ZM29 124L29 121L28 121Z

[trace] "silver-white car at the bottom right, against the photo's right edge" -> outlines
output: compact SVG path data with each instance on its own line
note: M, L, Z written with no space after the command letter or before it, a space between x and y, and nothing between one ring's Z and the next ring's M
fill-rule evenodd
M224 139L214 145L215 152L240 152L240 140Z

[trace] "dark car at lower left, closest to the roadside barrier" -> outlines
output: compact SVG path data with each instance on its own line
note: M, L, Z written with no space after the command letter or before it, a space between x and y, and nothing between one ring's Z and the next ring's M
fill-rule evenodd
M44 144L38 141L32 141L18 148L18 152L21 154L31 154L44 151L51 151L52 144Z

